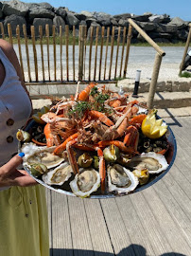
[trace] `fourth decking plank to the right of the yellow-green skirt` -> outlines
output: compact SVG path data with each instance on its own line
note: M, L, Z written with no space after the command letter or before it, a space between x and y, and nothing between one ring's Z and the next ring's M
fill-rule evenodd
M121 256L134 256L133 248L130 247L130 237L125 228L115 199L101 199L100 202L110 233L114 253ZM130 249L128 249L129 254L127 254L127 247L130 247Z

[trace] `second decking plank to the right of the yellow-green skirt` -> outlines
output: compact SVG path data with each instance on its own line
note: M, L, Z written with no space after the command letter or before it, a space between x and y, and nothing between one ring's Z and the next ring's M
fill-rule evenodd
M84 200L68 196L74 255L94 255Z

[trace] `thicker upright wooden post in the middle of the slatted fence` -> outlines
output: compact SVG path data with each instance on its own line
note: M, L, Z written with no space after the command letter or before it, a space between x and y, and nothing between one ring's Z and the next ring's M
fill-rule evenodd
M79 34L79 60L78 60L78 80L82 81L83 78L83 54L84 54L84 40L85 40L85 26L81 26Z

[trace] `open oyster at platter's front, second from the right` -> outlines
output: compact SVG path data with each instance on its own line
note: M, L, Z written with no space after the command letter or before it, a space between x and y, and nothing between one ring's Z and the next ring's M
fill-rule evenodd
M109 192L128 193L139 184L138 178L125 167L114 164L108 167Z

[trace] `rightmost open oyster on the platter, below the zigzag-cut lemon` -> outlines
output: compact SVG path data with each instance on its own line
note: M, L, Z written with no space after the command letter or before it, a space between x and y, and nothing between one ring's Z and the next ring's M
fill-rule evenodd
M128 163L128 167L133 170L148 169L149 174L159 174L166 170L168 163L164 155L149 152L132 157Z

